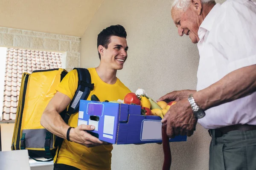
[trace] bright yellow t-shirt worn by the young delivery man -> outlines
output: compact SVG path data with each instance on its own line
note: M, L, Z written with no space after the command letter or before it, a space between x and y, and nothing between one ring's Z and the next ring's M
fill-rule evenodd
M105 83L98 76L95 68L88 68L91 75L91 81L94 83L93 91L90 91L90 96L95 94L100 101L112 101L124 99L127 93L131 91L119 80L110 85ZM57 91L66 94L72 100L78 86L78 74L76 70L70 71L61 83L56 88ZM77 127L78 113L70 116L68 125ZM68 142L66 139L61 145L61 150L58 155L58 164L67 164L77 167L81 170L111 170L111 151L112 145L102 145L97 147L87 148L75 142ZM56 160L56 155L54 162Z

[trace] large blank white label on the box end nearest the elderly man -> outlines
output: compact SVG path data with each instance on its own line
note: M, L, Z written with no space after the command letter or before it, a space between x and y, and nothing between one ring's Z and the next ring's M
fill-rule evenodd
M140 139L162 140L162 122L153 120L143 120L141 125Z

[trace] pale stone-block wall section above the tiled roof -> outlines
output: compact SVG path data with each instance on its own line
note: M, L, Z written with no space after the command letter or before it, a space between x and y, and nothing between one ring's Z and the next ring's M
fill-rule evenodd
M63 52L67 71L79 66L80 42L80 37L0 27L0 46Z

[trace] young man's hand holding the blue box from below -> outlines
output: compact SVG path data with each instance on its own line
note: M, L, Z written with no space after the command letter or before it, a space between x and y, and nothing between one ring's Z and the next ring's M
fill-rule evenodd
M94 147L102 144L109 144L108 142L100 141L98 138L87 133L86 130L94 130L92 125L79 125L76 128L70 129L70 141L82 144L86 147Z

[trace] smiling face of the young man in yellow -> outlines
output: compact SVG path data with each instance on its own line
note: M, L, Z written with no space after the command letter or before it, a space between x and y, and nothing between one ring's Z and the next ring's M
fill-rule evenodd
M102 62L105 62L111 69L121 70L127 59L128 46L123 37L111 36L108 48L103 47Z

